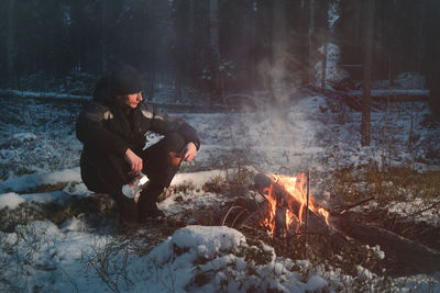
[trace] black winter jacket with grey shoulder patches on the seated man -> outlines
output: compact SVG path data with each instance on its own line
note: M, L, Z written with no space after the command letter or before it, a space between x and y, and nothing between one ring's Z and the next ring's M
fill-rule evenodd
M128 148L139 155L146 143L147 132L162 135L178 133L186 143L193 142L199 149L200 140L196 131L184 121L158 113L155 108L144 103L131 109L109 97L108 92L99 89L98 83L94 100L85 105L78 116L76 135L84 144L81 173L82 168L99 168L97 165L102 165L102 159L123 160Z

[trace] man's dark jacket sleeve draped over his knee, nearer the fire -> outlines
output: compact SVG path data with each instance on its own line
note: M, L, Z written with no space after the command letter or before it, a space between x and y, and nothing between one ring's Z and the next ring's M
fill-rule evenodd
M182 119L170 117L168 114L157 112L154 108L148 106L146 110L147 115L151 117L151 129L158 134L178 133L185 143L194 143L197 150L200 148L200 139L196 129ZM144 112L145 115L145 112Z

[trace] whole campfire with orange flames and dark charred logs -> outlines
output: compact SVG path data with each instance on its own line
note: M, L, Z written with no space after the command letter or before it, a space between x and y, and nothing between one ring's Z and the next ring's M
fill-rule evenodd
M228 210L221 225L250 232L263 229L270 233L274 244L283 244L280 247L298 243L296 239L305 240L305 255L307 235L310 246L324 243L326 249L334 251L341 251L346 246L359 246L360 243L372 247L378 245L387 256L388 272L394 271L396 275L404 271L433 272L439 268L440 251L374 223L360 222L353 216L356 213L346 213L374 198L334 211L319 206L310 193L308 176L305 173L292 177L257 173L254 183L255 191L265 199L265 203L262 205L256 199L252 202L243 198Z

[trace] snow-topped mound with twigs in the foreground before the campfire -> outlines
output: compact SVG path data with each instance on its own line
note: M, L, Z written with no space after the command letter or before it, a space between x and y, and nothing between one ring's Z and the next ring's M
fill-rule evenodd
M140 263L131 264L132 271L140 273L135 278L140 282L132 280L135 288L131 290L306 292L329 289L329 283L331 289L339 285L317 273L300 281L300 274L292 271L292 260L276 258L274 249L263 243L248 245L243 234L224 226L187 226L176 230L145 258L140 262L147 263L146 271L139 270ZM143 279L145 275L147 280Z

